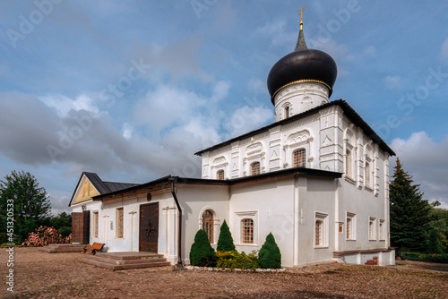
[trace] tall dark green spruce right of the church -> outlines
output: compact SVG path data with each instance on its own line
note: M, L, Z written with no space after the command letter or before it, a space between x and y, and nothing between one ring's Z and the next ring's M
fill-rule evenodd
M389 185L391 203L391 243L400 250L426 252L431 205L423 200L419 184L405 172L397 158L393 180Z

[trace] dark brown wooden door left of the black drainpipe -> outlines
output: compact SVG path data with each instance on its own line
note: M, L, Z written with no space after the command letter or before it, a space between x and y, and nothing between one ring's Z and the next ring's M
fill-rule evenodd
M159 240L159 202L140 206L139 252L156 252Z

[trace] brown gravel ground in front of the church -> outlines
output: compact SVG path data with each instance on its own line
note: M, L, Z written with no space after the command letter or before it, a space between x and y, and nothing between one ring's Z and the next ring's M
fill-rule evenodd
M448 298L448 267L433 263L399 261L403 265L387 268L332 263L283 273L112 271L77 261L82 253L36 248L15 249L11 293L5 284L8 256L0 249L5 298Z

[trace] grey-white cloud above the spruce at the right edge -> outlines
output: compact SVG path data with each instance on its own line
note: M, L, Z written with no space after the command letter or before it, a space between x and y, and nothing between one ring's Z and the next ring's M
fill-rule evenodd
M391 148L400 158L404 170L413 176L414 183L421 184L424 198L429 202L440 201L443 208L448 208L448 136L435 142L426 132L414 132L407 140L394 139ZM393 167L395 162L391 165Z

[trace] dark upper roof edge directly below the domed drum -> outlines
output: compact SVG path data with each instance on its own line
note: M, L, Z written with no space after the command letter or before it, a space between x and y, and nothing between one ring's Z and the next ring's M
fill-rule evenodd
M381 139L381 137L376 134L374 129L372 129L366 123L366 121L364 121L364 119L362 119L362 117L360 115L358 115L358 113L355 111L355 109L350 107L349 104L345 100L343 100L343 99L333 100L330 103L323 104L323 105L318 106L318 107L314 107L314 108L309 109L309 110L307 110L305 112L302 112L302 113L300 113L298 115L293 115L293 116L291 116L289 118L283 119L283 120L281 120L279 122L268 124L268 125L260 128L260 129L254 130L252 132L246 132L243 135L240 135L240 136L232 138L232 139L230 139L228 141L224 141L224 142L221 142L219 144L213 145L210 148L202 149L202 150L194 153L194 155L202 156L202 153L204 153L204 152L211 151L213 149L220 149L220 148L222 148L222 147L224 147L226 145L231 144L232 142L241 141L243 139L246 139L246 138L252 137L254 135L257 135L259 133L269 131L271 128L273 128L273 127L275 127L277 125L283 125L283 124L289 124L289 123L295 122L298 119L304 118L304 117L306 117L308 115L313 115L313 114L317 113L320 110L323 110L325 108L332 107L332 106L339 106L344 111L344 115L347 115L349 117L349 119L353 122L353 124L358 125L366 133L366 135L371 140L375 141L378 144L378 146L381 149L383 149L384 151L388 152L391 156L395 156L395 152L387 145L387 143L384 142Z

